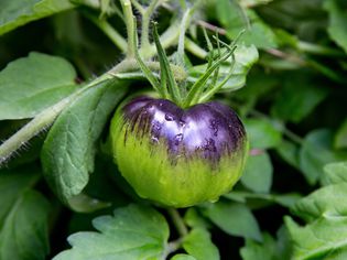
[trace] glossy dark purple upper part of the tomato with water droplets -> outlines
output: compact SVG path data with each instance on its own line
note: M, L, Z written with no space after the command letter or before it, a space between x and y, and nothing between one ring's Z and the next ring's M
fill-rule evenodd
M218 163L246 142L245 127L236 112L217 101L182 109L166 99L141 96L128 102L122 112L128 131L142 138L149 134L152 145L166 142L172 158L198 154Z

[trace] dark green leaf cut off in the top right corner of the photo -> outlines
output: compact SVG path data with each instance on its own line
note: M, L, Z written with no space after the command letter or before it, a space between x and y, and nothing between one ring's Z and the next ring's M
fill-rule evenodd
M324 9L329 14L328 34L347 53L347 12L336 0L325 0Z

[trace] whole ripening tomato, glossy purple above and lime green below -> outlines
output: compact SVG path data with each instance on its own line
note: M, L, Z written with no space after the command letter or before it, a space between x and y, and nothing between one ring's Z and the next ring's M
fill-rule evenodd
M137 97L111 122L115 162L143 198L187 207L216 201L239 180L248 154L242 122L217 101L182 109Z

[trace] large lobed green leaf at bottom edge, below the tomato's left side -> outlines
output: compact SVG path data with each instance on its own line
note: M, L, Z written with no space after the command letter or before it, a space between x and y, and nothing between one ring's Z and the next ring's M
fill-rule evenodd
M85 259L161 259L169 239L165 218L150 207L130 205L118 208L113 216L93 221L97 231L77 232L68 237L72 249L54 260Z

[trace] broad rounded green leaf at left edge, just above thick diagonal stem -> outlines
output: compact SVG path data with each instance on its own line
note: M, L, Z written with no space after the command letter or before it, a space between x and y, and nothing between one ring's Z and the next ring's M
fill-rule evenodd
M34 117L73 93L75 78L62 57L30 53L10 63L0 72L0 120Z

